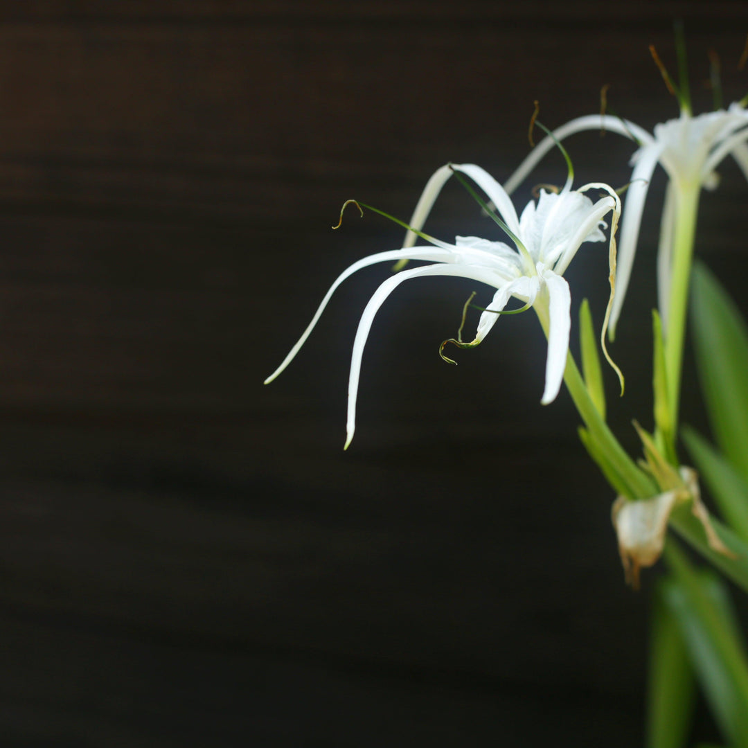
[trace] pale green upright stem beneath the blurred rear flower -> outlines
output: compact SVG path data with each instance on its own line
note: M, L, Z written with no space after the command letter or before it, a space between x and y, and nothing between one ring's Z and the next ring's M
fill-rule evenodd
M675 237L672 248L672 282L667 310L665 366L671 431L678 433L678 408L681 398L683 343L686 336L688 284L693 263L693 239L699 212L698 182L677 186L675 191Z

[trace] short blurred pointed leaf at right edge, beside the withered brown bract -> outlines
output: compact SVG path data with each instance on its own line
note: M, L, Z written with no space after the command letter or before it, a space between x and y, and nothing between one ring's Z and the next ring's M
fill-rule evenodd
M748 484L696 431L686 426L681 436L723 517L748 541Z

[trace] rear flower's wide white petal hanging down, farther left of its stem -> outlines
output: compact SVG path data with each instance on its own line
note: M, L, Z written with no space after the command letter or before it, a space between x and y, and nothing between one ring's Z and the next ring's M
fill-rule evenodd
M616 274L616 298L610 310L610 340L616 335L616 324L621 316L621 307L626 296L628 280L631 278L631 268L634 266L634 255L637 252L639 227L642 223L644 201L649 191L652 172L660 158L662 144L652 144L640 152L637 165L631 174L631 184L626 192L623 206L623 220L621 221L621 241L618 249L618 272Z

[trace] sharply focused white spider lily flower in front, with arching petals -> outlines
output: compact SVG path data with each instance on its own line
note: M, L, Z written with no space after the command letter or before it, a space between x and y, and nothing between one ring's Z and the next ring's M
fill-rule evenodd
M515 240L516 248L509 247L503 242L491 242L488 239L473 236L458 236L455 244L450 245L420 233L418 231L420 226L415 227L418 236L427 239L432 246L406 247L379 252L358 260L346 269L332 284L312 321L281 366L266 379L265 383L268 384L288 366L309 337L335 289L357 270L375 263L391 263L393 260L423 260L432 263L404 270L387 278L370 298L361 315L353 344L349 377L346 448L351 443L355 432L356 398L364 346L379 307L400 283L427 275L454 275L460 278L470 278L470 280L485 283L496 289L491 304L483 311L479 319L474 340L471 343L462 344L465 347L476 346L485 338L510 298L518 298L528 306L533 306L548 336L545 390L542 396L542 402L546 404L552 402L559 392L568 352L571 295L568 283L562 278L562 273L583 242L605 240L601 231L601 228L605 227L602 219L611 211L613 211L613 226L610 251L611 258L615 257L613 234L620 204L612 188L595 183L572 191L571 184L567 183L559 194L542 191L538 203L534 201L528 203L521 218L518 218L509 196L500 184L482 168L475 165L453 165L446 169L450 174L453 171L459 171L468 175L485 191L489 199L499 206L503 223L508 227L509 235ZM443 174L442 170L440 174ZM590 188L601 188L608 194L593 203L589 197L582 194L584 190ZM428 209L426 209L427 212ZM420 222L423 223L423 221ZM613 268L611 278L612 275Z

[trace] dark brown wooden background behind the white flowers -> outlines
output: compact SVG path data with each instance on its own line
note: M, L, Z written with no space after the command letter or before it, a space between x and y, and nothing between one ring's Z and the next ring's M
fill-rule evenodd
M402 286L347 453L386 267L262 381L340 270L399 246L373 214L331 232L343 200L408 218L444 162L506 178L533 99L555 126L610 83L617 113L675 116L647 50L675 67L675 16L697 106L711 48L743 96L738 3L0 2L2 746L641 743L657 572L624 586L568 396L539 405L533 316L448 367L473 285ZM622 138L568 147L577 183L628 179ZM722 171L699 252L738 294L748 188ZM553 155L533 183L562 178ZM609 378L632 449L662 188L614 349L631 396ZM490 233L458 186L429 226ZM568 272L598 320L606 263L586 245Z

